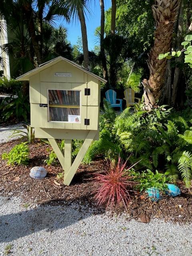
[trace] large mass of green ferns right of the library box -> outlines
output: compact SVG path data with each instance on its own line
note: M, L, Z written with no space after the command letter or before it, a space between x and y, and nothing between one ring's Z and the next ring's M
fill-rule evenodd
M189 187L192 179L192 110L174 112L160 106L151 111L135 106L132 114L126 108L119 116L104 102L100 116L100 138L92 142L84 162L95 156L117 159L130 156L137 168L169 173L172 182L182 178Z

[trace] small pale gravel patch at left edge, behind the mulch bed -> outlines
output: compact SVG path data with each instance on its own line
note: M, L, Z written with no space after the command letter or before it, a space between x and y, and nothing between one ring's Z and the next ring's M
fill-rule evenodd
M0 143L4 143L4 142L7 142L8 140L15 140L20 138L21 136L14 136L10 138L14 130L23 130L24 132L26 131L26 129L22 126L22 124L0 126Z

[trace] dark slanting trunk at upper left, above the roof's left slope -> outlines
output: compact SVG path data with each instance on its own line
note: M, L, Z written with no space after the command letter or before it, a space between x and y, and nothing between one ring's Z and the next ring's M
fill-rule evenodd
M33 19L33 9L30 3L25 2L23 4L24 8L24 13L25 13L25 18L28 24L28 30L29 30L29 36L31 38L31 42L34 47L34 53L37 58L38 64L42 63L42 58L39 50L39 45L38 45L38 40L36 39L36 32L35 32L35 24L34 24L34 19Z

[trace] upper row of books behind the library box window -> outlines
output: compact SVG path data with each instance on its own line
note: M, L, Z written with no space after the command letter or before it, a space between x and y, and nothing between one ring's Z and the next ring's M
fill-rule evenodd
M80 91L48 90L49 104L80 105Z

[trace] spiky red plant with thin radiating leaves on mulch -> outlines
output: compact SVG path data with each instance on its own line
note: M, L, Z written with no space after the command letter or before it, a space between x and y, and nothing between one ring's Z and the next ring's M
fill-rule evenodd
M101 186L96 190L94 198L97 201L98 206L106 204L106 208L110 206L110 210L114 205L124 204L124 207L130 202L130 195L128 192L128 186L134 186L136 182L131 181L132 176L125 172L132 168L126 168L127 162L122 162L121 158L118 158L117 164L110 164L110 169L104 174L98 174L95 178L96 182L101 183Z

